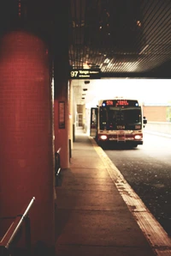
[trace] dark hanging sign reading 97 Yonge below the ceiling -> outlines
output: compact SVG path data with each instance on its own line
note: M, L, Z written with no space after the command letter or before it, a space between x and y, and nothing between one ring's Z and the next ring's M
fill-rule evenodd
M100 79L100 69L71 70L70 79Z

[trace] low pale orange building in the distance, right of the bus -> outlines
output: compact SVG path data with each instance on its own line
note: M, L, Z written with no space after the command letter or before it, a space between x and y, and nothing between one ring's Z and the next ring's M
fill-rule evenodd
M148 121L171 122L171 103L144 102L143 111Z

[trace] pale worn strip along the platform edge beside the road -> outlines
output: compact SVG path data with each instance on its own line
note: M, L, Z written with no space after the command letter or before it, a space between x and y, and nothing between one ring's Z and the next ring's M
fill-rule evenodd
M133 191L133 188L127 183L123 175L109 156L97 145L92 137L89 137L94 149L107 168L110 178L114 181L115 186L121 194L121 197L127 204L128 209L132 212L134 219L139 224L150 246L159 256L171 255L171 239L166 231L162 228L156 218L150 213L150 210L144 205L139 196Z

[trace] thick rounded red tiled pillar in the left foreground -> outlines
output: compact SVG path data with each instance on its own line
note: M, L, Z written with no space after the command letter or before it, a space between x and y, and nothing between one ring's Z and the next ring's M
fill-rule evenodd
M32 245L55 243L50 59L44 42L16 31L0 46L0 215L32 197ZM9 224L9 223L8 223ZM7 226L3 226L3 235Z

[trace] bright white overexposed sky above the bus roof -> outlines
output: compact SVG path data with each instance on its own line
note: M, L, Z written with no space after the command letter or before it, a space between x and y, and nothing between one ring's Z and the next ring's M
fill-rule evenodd
M170 79L100 79L91 81L91 95L85 107L96 107L98 100L116 96L160 104L171 102Z

